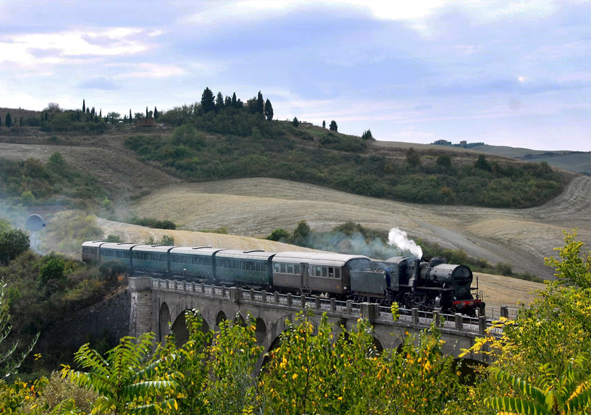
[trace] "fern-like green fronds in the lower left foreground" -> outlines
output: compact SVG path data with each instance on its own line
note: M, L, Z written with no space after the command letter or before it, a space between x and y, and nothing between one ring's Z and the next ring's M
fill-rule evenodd
M158 372L159 362L150 357L153 335L125 337L106 356L82 345L75 362L84 371L65 366L62 376L75 385L97 392L94 413L140 414L177 407L172 390L176 383L167 373Z

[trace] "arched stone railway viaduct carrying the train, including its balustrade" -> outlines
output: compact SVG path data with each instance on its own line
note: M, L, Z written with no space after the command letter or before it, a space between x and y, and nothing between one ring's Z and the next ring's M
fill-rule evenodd
M255 319L257 341L265 352L279 344L279 336L286 328L286 319L293 321L303 309L313 312L312 321L315 324L326 313L329 323L347 329L355 326L360 317L368 319L374 326L374 342L378 350L397 348L404 341L405 333L418 334L436 321L440 326L441 338L445 340L444 352L455 357L459 356L462 349L474 345L475 338L483 336L488 324L486 317L443 315L418 309L400 309L400 317L394 321L389 307L369 302L267 293L150 276L130 278L129 289L132 301L129 332L132 336L151 331L158 341L162 341L172 328L177 340L184 342L188 338L184 321L187 309L198 309L205 330L215 329L224 319L244 321L250 313ZM481 355L468 357L479 361L484 359Z

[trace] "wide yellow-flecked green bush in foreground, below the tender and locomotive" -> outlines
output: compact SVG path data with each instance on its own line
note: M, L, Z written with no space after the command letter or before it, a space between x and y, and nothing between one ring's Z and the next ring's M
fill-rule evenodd
M300 313L286 326L259 383L263 414L440 414L461 396L436 328L379 354L364 319L336 332Z

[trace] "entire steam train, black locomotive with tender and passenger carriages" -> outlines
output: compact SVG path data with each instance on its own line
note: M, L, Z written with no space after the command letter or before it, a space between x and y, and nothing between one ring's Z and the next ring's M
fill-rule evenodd
M84 262L122 262L132 275L244 286L281 293L329 295L340 300L379 302L426 311L476 315L485 303L464 265L414 256L370 260L336 253L227 250L88 241ZM476 290L476 295L472 291Z

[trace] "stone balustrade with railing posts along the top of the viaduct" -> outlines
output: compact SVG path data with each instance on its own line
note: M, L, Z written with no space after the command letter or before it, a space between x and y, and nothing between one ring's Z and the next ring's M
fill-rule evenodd
M130 288L132 288L132 280L130 279ZM442 333L454 333L456 336L467 336L471 338L482 336L486 329L491 326L490 319L484 316L467 317L459 313L440 314L438 312L420 311L416 308L400 308L398 310L398 318L395 320L390 307L370 304L369 302L340 301L334 298L281 294L278 292L267 293L264 290L248 290L241 287L206 285L204 283L171 279L152 278L151 289L201 298L212 298L244 305L280 308L285 309L287 312L310 309L314 314L326 312L329 316L339 317L341 319L366 317L373 324L384 324L386 326L412 326L421 329L431 326L434 322ZM495 328L493 329L493 334L495 336L501 336L502 331Z

